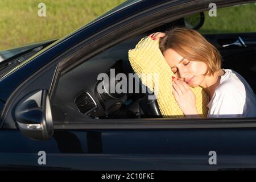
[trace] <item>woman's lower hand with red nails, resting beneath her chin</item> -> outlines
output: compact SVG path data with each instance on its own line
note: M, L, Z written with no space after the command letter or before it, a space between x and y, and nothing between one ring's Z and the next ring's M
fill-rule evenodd
M172 93L185 116L200 117L196 109L195 94L185 81L172 77Z

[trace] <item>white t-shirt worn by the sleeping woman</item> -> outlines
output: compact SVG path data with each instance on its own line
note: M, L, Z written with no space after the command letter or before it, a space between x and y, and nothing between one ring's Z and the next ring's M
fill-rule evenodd
M256 95L250 85L232 69L223 70L225 74L207 105L207 117L256 117Z

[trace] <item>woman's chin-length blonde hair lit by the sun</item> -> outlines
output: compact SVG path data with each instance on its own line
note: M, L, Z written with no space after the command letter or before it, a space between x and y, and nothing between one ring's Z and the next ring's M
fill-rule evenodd
M162 53L174 49L180 56L191 61L203 61L207 64L204 75L212 76L221 68L221 55L216 47L210 44L199 32L185 27L176 27L166 32L160 40Z

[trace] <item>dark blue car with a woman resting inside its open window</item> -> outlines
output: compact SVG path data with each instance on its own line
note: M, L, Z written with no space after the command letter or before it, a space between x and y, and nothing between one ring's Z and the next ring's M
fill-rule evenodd
M252 2L214 1L217 13ZM3 67L0 169L256 169L256 118L163 118L156 101L147 100L152 93L97 92L101 73L115 85L113 69L133 73L128 51L144 36L174 26L200 31L210 24L210 3L126 1L29 59ZM237 24L224 20L217 25ZM256 92L256 30L214 28L203 35L220 50L223 67L240 73Z

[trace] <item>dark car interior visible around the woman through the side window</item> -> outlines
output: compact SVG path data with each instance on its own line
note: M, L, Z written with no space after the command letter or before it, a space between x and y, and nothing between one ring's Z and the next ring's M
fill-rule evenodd
M115 118L160 118L161 113L156 100L148 100L148 95L154 93L142 92L145 87L139 77L129 77L134 73L128 60L128 51L152 32L165 32L175 26L193 27L199 29L204 24L204 13L199 14L200 22L192 26L185 18L175 22L163 24L160 27L135 36L125 42L107 49L96 57L85 61L75 69L65 73L59 78L57 89L52 103L53 121L84 121L85 118L115 119ZM203 34L205 38L218 48L222 56L222 68L233 69L240 73L256 93L256 36L253 33L241 34ZM238 45L239 44L239 45ZM238 45L238 46L237 46ZM244 60L246 57L246 60ZM241 64L243 63L243 64ZM111 90L110 82L117 85L119 81L111 76L111 69L115 75L123 73L127 82L133 79L139 84L139 93L99 93L97 86L100 73L106 73L108 81L103 81L103 88ZM127 84L129 86L129 84ZM108 89L106 89L108 88ZM145 91L145 90L144 90Z

